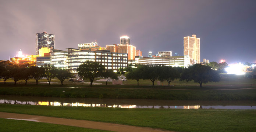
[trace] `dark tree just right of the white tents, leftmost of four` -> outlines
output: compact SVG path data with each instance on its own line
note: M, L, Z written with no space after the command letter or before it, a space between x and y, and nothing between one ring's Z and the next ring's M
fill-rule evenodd
M127 74L127 79L136 80L137 85L139 85L139 80L142 79L143 66L139 65L137 68L134 68Z

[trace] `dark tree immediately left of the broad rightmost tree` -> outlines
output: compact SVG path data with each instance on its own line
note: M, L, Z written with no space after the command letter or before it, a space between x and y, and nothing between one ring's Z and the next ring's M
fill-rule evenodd
M166 80L168 82L168 86L170 86L171 81L179 78L179 76L180 76L179 71L176 67L162 66L159 80L160 81Z

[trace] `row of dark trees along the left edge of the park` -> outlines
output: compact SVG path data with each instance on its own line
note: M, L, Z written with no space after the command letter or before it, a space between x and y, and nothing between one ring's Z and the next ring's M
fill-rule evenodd
M4 84L6 84L6 80L12 78L14 80L14 84L19 80L25 80L25 84L29 79L35 79L36 84L38 81L45 77L49 83L51 84L51 79L57 77L61 85L63 85L63 81L67 78L72 78L73 74L68 70L57 69L54 66L46 65L44 67L37 66L19 66L19 65L0 65L0 78L3 78Z

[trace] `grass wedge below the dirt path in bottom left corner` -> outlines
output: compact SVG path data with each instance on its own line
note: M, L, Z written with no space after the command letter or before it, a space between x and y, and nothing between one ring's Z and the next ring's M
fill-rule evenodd
M75 126L0 118L1 132L110 132Z

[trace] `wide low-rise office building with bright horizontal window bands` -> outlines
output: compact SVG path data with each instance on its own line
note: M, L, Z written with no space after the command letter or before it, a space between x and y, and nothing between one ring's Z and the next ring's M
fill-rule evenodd
M68 48L67 51L51 52L51 65L76 72L77 67L87 60L101 63L106 69L117 70L128 66L128 54L101 51L83 51Z

